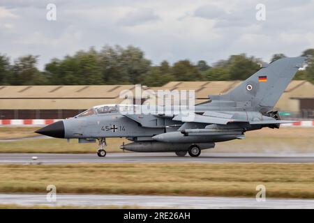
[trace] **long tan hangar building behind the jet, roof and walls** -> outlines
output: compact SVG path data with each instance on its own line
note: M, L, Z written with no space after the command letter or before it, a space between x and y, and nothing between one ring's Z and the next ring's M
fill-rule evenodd
M142 89L195 90L195 99L199 103L206 101L208 95L226 93L239 83L169 82L162 87L142 86ZM0 86L0 119L67 118L94 105L120 103L126 98L135 100L134 91L134 85ZM121 92L124 92L122 96ZM143 96L141 100L151 98ZM314 118L314 85L307 81L292 81L276 108L301 118Z

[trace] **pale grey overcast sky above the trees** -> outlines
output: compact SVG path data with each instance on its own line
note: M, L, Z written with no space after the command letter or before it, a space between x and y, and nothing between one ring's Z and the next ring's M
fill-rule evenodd
M46 19L48 3L57 20ZM257 3L266 20L257 21ZM246 53L269 61L314 48L314 0L0 0L0 54L40 55L38 67L79 49L134 45L154 64Z

